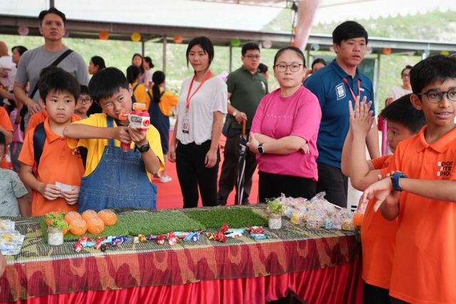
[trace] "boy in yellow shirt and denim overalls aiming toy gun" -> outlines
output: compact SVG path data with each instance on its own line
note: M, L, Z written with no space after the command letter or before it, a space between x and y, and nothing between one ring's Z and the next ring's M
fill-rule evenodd
M103 113L92 114L63 131L70 147L88 150L78 210L155 209L157 187L150 174L163 169L160 134L152 125L139 130L118 120L120 114L132 109L131 88L118 68L98 71L88 89ZM120 148L121 142L126 147Z

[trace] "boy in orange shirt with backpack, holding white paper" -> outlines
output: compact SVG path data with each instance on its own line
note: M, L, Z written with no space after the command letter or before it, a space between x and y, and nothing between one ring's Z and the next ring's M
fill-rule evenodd
M79 97L78 80L61 68L48 68L38 83L40 99L48 117L43 122L46 140L36 166L33 135L26 134L19 161L22 162L22 181L33 189L31 215L50 211L77 210L79 185L84 166L81 154L70 149L63 137L63 129L74 121L73 113ZM36 167L34 169L33 167Z

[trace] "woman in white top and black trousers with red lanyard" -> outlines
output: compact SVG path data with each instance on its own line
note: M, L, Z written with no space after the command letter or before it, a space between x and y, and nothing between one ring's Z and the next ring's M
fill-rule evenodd
M184 80L180 89L168 159L176 162L184 208L197 207L198 187L202 205L217 206L219 138L227 114L227 85L209 70L214 58L209 38L192 39L186 56L195 75Z

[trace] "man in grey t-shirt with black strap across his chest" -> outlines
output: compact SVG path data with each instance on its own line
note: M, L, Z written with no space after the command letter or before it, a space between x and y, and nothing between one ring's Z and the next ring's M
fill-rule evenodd
M26 105L28 109L26 123L28 123L30 115L41 110L41 106L38 103L38 90L33 96L28 96L26 93L27 82L30 82L30 90L33 91L33 88L38 83L41 70L51 65L68 50L62 42L63 35L65 35L65 14L58 11L58 9L51 8L41 11L38 19L40 21L39 30L44 38L44 45L26 51L21 56L14 82L14 96ZM57 66L75 76L80 85L88 85L87 65L78 53L70 53Z

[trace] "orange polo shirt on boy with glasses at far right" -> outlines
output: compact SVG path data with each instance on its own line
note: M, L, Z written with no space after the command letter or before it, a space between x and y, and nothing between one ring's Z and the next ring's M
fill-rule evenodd
M390 166L410 179L456 180L456 128L432 145L427 127L399 143ZM456 202L402 192L390 295L409 303L456 303Z

